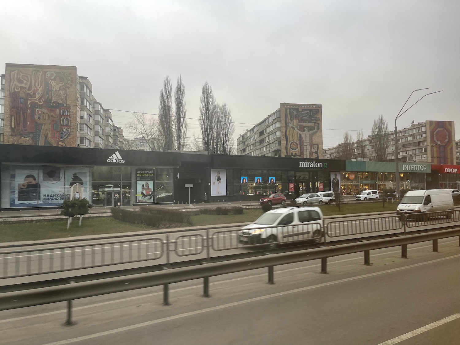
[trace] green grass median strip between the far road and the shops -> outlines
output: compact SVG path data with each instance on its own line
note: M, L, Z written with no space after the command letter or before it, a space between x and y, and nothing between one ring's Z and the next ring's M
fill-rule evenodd
M396 207L397 203L386 203L384 208L381 202L369 202L360 204L342 204L340 205L340 211L333 204L322 205L320 208L325 216L331 216L395 211ZM260 208L252 208L245 209L243 214L200 214L191 216L190 221L192 226L246 223L253 222L262 214L263 211ZM169 228L173 226L187 227L187 224L171 224ZM78 220L75 219L72 224L70 224L70 229L66 230L66 228L67 218L51 222L40 221L37 223L1 224L0 242L37 241L52 238L115 234L121 232L147 231L155 229L147 225L121 222L111 217L84 217L81 226L78 226Z

